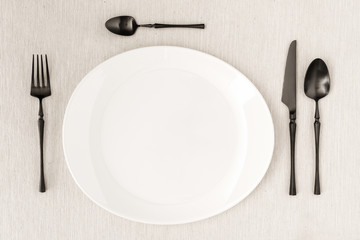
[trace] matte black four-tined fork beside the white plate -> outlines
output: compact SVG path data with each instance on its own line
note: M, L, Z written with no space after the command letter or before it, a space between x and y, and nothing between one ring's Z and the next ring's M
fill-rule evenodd
M39 191L45 192L45 176L44 176L44 154L43 154L43 142L44 142L44 113L42 107L42 100L51 95L50 89L50 75L47 56L45 55L45 66L46 66L46 76L44 75L44 64L43 56L41 58L41 76L39 73L39 55L36 55L36 81L35 81L35 72L34 72L34 55L32 59L32 74L31 74L31 91L30 95L39 99L39 137L40 137L40 186ZM41 79L41 81L40 81ZM46 79L46 80L45 80Z

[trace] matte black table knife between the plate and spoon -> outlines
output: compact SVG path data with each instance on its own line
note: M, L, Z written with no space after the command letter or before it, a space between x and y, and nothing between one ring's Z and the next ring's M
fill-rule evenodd
M296 40L292 41L286 60L281 101L289 108L290 128L290 195L296 195L295 184L295 133L296 133Z

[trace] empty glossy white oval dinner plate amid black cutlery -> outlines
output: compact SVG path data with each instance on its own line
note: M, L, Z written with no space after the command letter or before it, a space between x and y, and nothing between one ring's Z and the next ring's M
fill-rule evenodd
M238 70L180 47L146 47L93 69L63 123L70 172L118 216L180 224L219 214L264 176L274 129L268 107Z

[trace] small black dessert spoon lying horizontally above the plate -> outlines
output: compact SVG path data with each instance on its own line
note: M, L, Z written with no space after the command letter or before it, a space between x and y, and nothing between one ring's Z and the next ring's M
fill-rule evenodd
M119 16L110 18L105 23L106 28L115 34L123 36L133 35L138 27L148 28L199 28L204 29L205 24L137 24L135 19L131 16Z

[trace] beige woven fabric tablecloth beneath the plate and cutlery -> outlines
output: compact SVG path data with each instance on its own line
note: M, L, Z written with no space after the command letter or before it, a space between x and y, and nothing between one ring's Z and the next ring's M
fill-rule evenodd
M0 239L360 239L360 1L347 0L0 0ZM205 23L205 30L104 27ZM288 195L288 111L281 103L287 50L298 41L296 197ZM269 105L275 150L259 186L230 210L200 222L157 226L114 216L89 200L67 169L62 121L81 79L104 60L144 46L182 46L244 73ZM30 97L31 54L49 56L53 95L44 100L48 190L38 192L38 101ZM320 102L322 194L313 195L314 102L307 66L323 58L331 92ZM261 146L259 146L259 149Z

